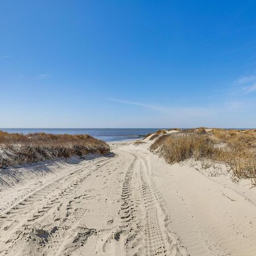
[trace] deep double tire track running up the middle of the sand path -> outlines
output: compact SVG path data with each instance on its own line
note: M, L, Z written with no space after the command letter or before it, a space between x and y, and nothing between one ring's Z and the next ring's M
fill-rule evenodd
M187 255L179 240L167 229L156 188L151 184L151 171L142 155L134 154L122 184L119 228L105 242L104 253L111 245L122 248L120 255Z

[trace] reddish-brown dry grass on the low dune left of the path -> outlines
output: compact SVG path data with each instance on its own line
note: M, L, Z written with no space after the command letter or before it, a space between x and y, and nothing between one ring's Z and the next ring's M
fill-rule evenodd
M0 168L40 160L106 154L109 145L90 135L18 134L0 131Z

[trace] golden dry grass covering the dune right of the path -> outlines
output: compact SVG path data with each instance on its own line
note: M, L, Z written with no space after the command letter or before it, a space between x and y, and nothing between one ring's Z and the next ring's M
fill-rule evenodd
M245 177L255 184L255 130L213 129L207 132L200 127L164 135L151 145L151 151L156 149L168 163L179 163L189 158L225 163L234 180Z

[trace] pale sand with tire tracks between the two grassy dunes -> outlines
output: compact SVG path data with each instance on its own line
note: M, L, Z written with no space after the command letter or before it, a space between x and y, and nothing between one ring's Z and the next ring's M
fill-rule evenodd
M0 255L256 255L250 180L170 166L151 142L0 171Z

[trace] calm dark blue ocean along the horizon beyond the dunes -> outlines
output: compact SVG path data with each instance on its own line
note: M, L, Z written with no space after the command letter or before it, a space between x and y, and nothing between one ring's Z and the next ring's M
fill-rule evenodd
M9 133L52 133L52 134L89 134L102 141L123 141L125 139L137 139L141 135L154 133L163 128L0 128Z

